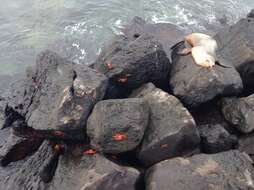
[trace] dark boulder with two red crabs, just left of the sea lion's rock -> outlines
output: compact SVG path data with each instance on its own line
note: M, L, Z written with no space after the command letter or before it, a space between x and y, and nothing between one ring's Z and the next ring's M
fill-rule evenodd
M99 55L93 68L105 74L112 85L136 88L168 77L170 64L162 45L144 34L135 41L118 36Z

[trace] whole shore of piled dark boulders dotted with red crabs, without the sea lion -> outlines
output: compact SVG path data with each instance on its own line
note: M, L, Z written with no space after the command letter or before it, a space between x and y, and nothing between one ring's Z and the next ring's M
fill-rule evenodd
M253 15L215 36L228 67L139 17L91 66L40 53L1 94L0 190L254 189Z

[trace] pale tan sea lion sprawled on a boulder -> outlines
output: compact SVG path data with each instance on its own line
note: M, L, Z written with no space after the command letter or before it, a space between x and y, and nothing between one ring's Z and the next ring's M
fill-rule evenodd
M211 68L215 64L222 67L229 67L219 63L216 56L218 45L216 40L211 36L202 33L192 33L185 36L183 41L178 42L172 46L171 49L175 49L185 42L190 45L191 48L184 48L178 51L178 55L188 55L191 53L195 63L206 68Z

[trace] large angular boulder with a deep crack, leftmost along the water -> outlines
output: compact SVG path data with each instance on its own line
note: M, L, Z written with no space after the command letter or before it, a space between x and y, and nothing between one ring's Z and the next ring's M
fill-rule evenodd
M104 75L45 51L9 107L35 129L80 129L106 88Z

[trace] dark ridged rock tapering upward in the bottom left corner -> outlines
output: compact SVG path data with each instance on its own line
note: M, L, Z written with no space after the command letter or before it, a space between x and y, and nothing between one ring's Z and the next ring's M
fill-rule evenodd
M46 190L47 184L39 177L41 166L52 154L48 142L31 157L0 168L0 190Z

